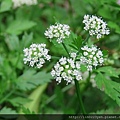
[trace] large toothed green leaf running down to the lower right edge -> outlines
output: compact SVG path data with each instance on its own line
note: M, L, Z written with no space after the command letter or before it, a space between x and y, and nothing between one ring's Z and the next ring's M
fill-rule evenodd
M95 77L96 84L100 90L103 90L109 97L120 106L120 83L107 79L103 74L98 73Z

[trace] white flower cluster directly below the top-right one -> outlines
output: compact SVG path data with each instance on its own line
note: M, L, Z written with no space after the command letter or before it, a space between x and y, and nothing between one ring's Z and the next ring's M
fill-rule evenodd
M88 47L85 45L81 48L83 55L80 57L81 63L87 65L87 70L92 71L93 67L97 67L98 65L102 65L104 62L102 51L96 46L92 45Z

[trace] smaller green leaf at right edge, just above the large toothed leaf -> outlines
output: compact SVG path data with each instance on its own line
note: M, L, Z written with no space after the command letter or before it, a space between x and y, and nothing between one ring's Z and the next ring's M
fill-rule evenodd
M115 68L111 66L100 67L99 69L97 69L97 71L104 72L105 74L113 77L118 77L118 75L120 74L120 72L118 72Z

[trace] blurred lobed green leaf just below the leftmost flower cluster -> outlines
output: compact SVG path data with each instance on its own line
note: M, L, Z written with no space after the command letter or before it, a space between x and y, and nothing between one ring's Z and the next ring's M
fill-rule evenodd
M34 89L38 85L50 82L51 78L50 73L44 71L36 73L35 70L28 70L17 79L16 84L19 89L26 91Z

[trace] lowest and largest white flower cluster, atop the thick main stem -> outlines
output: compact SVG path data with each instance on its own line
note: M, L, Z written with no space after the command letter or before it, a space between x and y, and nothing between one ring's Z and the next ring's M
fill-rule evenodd
M71 58L62 57L54 66L51 75L58 83L65 80L68 83L74 79L82 80L80 61L75 61L76 53L71 53Z

